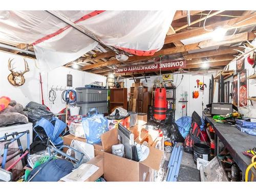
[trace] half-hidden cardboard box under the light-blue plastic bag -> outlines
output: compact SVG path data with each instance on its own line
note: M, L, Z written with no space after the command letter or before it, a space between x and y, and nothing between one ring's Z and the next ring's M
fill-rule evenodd
M63 137L63 144L70 146L71 141L72 141L73 139L74 139L74 140L78 140L78 141L86 142L86 139L84 139L84 138L75 137L74 135L69 134L69 135L66 135L66 136ZM93 146L94 146L94 155L95 155L95 157L96 157L97 155L103 155L103 148L102 148L102 144L101 144L101 143L93 144ZM64 148L63 148L63 152L64 152L64 153L66 153L67 150L68 150L67 147L64 147Z

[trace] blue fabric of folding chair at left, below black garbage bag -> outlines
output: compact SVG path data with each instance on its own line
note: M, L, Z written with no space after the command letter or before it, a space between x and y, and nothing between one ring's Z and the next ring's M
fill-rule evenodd
M52 121L53 120L56 120L55 125L53 125L47 119L41 118L34 127L41 126L45 130L47 136L50 138L53 144L60 145L63 143L63 140L61 139L61 137L59 137L59 135L65 130L67 124L55 117L52 118Z

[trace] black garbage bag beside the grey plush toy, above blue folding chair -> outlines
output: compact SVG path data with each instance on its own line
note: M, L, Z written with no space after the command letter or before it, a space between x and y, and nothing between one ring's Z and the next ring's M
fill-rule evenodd
M30 122L39 121L42 117L50 121L53 117L53 113L47 109L46 105L42 105L33 101L27 104L24 111L28 113Z

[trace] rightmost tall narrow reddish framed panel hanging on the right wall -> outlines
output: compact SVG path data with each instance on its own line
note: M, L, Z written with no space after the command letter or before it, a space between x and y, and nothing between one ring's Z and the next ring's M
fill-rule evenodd
M247 106L247 74L246 69L239 73L239 106Z

